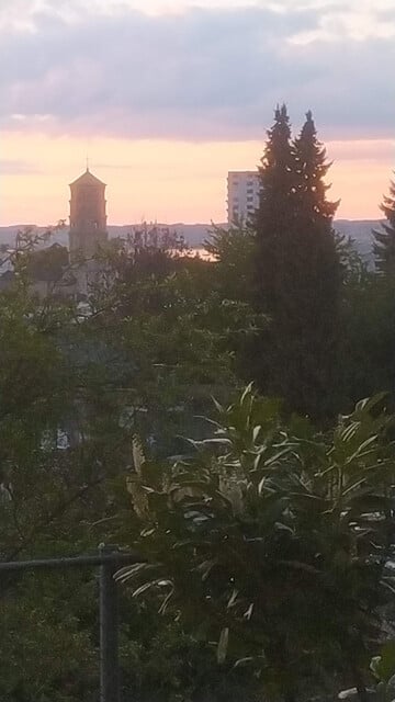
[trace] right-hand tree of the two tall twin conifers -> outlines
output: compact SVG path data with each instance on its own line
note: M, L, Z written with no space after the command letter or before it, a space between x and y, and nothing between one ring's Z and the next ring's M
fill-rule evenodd
M339 202L327 200L330 185L325 177L331 163L317 138L311 111L294 139L293 151L297 174L294 297L300 315L300 382L295 390L301 406L319 416L330 411L328 390L334 397L336 386L340 261L332 224Z

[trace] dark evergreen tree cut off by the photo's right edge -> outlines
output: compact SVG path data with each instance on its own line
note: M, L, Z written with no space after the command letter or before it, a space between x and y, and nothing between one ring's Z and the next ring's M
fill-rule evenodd
M376 270L386 275L395 273L395 181L390 183L390 195L384 195L380 208L385 215L386 223L382 230L373 230L373 253Z

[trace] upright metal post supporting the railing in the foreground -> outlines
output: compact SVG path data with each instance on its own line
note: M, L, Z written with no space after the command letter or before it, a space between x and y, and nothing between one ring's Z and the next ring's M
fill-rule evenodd
M116 551L116 546L99 546L101 555ZM100 702L120 702L115 570L111 562L100 566Z

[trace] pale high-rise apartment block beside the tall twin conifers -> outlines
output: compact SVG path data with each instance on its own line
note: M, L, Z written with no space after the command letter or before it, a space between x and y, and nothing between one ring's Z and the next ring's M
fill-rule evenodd
M246 222L259 206L258 171L229 171L227 177L228 224Z

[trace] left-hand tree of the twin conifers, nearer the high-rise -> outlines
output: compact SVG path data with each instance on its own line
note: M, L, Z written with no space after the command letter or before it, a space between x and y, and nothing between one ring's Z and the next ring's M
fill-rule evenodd
M296 173L286 105L278 106L259 168L260 202L256 214L256 293L258 312L270 325L257 339L248 373L266 394L287 396L289 304L294 234Z

